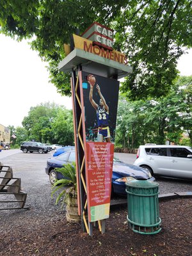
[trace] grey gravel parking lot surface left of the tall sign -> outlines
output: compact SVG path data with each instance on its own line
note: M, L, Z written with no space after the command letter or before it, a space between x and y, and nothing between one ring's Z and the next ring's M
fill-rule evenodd
M49 176L45 173L47 158L51 157L52 153L24 154L20 150L14 152L16 154L1 158L0 161L4 165L12 166L13 177L21 179L22 191L28 193L25 207L29 207L29 210L1 211L1 222L10 221L13 212L18 215L23 212L24 216L28 217L44 214L45 218L54 213L63 214L60 206L54 204L56 196L51 198L51 184Z

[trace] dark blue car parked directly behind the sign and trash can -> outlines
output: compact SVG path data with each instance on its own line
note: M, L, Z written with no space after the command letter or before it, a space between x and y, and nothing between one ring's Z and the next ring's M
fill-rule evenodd
M72 164L76 161L76 154L74 150L65 152L57 157L50 157L47 159L47 166L45 168L45 173L49 175L49 180L51 184L54 184L56 179L62 179L63 176L60 172L56 172L55 168L63 167L63 164ZM134 166L133 164L126 164L119 159L114 158L113 160L113 175L112 175L112 192L115 194L126 195L125 192L125 182L130 179L138 180L152 180L154 177L143 168Z

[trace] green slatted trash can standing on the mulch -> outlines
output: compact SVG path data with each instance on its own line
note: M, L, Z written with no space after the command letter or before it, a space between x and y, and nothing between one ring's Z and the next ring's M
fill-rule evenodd
M159 184L150 180L129 180L126 192L129 227L140 234L159 233Z

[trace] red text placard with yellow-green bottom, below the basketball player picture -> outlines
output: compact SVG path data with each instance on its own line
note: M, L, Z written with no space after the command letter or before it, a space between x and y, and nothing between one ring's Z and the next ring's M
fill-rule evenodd
M86 184L89 221L109 218L114 145L86 142Z

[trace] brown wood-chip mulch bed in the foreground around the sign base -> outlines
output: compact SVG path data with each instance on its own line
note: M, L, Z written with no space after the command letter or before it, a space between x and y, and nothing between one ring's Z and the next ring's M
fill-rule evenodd
M133 232L127 225L127 208L118 207L111 209L105 234L94 227L92 237L78 224L68 223L63 213L27 218L28 211L16 212L19 218L1 228L0 255L191 256L192 198L159 202L159 212L162 230L158 234Z

